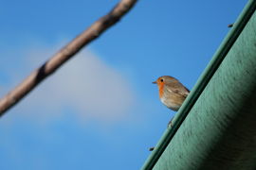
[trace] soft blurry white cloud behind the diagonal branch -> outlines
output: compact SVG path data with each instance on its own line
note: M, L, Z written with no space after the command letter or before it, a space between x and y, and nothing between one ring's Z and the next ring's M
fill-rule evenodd
M28 50L27 68L36 68L52 51ZM133 102L134 94L126 78L85 50L48 77L15 110L45 121L62 116L65 110L73 110L82 121L113 122L129 116Z

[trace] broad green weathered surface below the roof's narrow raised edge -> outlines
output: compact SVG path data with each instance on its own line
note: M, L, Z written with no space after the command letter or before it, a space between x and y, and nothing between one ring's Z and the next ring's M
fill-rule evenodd
M154 169L244 170L255 165L254 14Z

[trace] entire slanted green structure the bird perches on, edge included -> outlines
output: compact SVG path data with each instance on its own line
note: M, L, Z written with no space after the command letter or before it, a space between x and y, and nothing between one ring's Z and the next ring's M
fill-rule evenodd
M256 0L249 0L142 170L256 169Z

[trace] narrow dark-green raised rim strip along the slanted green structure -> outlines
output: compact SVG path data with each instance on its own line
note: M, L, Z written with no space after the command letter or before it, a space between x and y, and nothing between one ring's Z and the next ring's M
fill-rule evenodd
M160 158L162 153L164 152L167 145L173 139L175 132L181 126L182 122L185 120L186 116L189 114L190 110L192 110L192 106L196 102L197 98L204 91L206 85L210 81L211 76L218 69L222 60L226 57L229 52L229 49L233 45L233 43L237 40L240 33L243 31L244 27L247 25L248 20L256 9L256 0L248 0L246 7L243 9L239 17L237 18L234 26L229 31L228 35L221 43L213 58L210 60L208 66L205 71L197 80L196 84L192 88L192 92L185 100L182 107L176 113L173 120L173 127L169 127L165 130L164 134L160 138L158 144L156 144L154 151L149 156L149 158L144 162L141 170L153 169L156 161Z

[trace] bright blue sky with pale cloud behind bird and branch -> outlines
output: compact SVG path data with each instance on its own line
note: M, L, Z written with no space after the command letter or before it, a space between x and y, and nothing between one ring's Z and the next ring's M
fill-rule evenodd
M0 94L117 0L0 0ZM174 115L151 82L192 89L246 0L139 1L0 119L0 169L139 169Z

